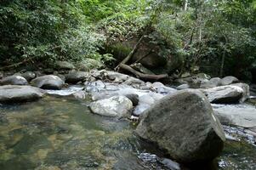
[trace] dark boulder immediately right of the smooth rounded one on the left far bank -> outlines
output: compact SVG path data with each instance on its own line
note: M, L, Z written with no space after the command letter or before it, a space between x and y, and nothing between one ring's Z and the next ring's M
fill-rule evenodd
M89 73L85 71L71 71L65 75L65 82L76 84L77 82L84 82L89 77Z

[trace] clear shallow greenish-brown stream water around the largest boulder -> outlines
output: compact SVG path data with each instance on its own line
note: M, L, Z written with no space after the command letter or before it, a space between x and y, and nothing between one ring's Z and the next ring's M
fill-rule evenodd
M134 136L133 122L94 115L88 102L47 96L1 105L0 169L168 169L157 156L146 154L150 151ZM217 169L255 170L255 145L236 134L240 141L226 142Z

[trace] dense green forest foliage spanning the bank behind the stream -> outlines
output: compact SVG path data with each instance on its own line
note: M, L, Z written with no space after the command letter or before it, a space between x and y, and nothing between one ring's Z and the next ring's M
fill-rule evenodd
M145 33L179 72L242 76L256 58L255 0L3 0L0 26L0 65L110 60L110 42Z

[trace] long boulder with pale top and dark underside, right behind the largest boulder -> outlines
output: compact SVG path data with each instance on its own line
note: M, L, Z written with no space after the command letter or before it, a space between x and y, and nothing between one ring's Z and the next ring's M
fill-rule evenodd
M213 104L239 103L243 98L243 90L237 86L220 86L216 88L202 89L202 92Z

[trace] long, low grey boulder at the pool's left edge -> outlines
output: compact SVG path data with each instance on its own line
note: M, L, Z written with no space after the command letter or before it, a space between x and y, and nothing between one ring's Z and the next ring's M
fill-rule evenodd
M0 103L26 102L40 99L43 91L31 86L0 86Z

